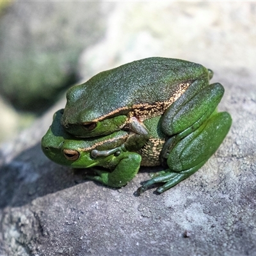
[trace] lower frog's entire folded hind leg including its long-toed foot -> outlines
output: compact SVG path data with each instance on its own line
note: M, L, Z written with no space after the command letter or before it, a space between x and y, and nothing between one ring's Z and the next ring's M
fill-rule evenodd
M143 193L152 184L164 182L157 189L159 193L163 193L195 173L220 147L231 123L232 119L227 112L214 112L204 124L185 138L178 142L175 138L167 141L161 154L169 169L145 182L138 189L138 193Z

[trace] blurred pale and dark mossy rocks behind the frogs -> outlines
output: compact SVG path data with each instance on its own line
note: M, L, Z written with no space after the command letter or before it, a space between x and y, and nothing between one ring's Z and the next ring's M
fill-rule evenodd
M0 2L0 142L102 70L163 56L255 73L254 2ZM227 74L228 76L228 74Z

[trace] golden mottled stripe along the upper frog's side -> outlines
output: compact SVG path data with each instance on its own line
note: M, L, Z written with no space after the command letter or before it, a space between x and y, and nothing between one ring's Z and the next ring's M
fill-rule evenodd
M168 100L164 100L163 102L154 102L153 104L149 103L141 103L141 104L135 104L131 107L122 107L115 109L114 111L109 112L106 115L100 116L99 118L95 118L92 120L92 122L99 122L100 120L104 120L105 118L108 118L109 116L115 116L117 113L120 113L122 111L128 112L128 117L131 118L132 116L138 116L143 122L143 120L147 118L152 118L155 116L163 115L164 111L179 97L186 92L188 87L191 85L191 83L181 83L179 84L179 88L172 93L171 97Z

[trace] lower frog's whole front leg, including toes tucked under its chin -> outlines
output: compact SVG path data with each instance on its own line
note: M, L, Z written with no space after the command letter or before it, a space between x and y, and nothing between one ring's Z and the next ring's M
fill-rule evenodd
M96 176L86 175L87 179L95 180L113 188L125 186L140 169L141 156L134 152L122 152L120 156L113 157L111 165L115 166L111 172L95 170Z

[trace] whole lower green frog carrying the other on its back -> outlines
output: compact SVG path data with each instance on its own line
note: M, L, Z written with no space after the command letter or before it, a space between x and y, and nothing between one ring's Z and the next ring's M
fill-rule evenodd
M123 147L130 136L128 131L82 140L63 130L61 115L62 111L57 111L42 138L45 155L58 164L73 168L107 168L110 171L94 169L97 175L87 178L115 188L132 180L140 166L166 166L166 170L150 174L152 179L138 189L139 194L156 183L162 184L157 191L163 193L195 173L218 149L232 122L227 112L214 111L199 127L195 124L189 131L167 137L161 129L163 116L150 118L145 120L149 140L132 152Z

